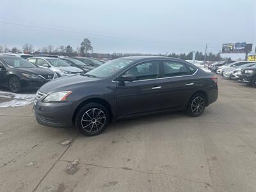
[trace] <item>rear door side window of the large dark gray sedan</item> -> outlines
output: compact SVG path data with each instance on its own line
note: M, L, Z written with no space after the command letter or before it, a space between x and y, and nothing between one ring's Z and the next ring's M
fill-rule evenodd
M179 61L163 61L163 64L165 77L184 76L189 74L186 65Z

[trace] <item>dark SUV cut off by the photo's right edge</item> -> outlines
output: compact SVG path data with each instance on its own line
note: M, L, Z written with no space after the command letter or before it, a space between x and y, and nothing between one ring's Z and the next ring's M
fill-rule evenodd
M256 67L242 68L238 81L250 84L256 88Z

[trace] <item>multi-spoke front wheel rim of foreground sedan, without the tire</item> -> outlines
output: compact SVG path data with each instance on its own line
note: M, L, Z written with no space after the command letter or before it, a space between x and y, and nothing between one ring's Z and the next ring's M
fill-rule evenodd
M105 113L98 108L89 109L81 118L81 125L86 132L97 132L106 123Z

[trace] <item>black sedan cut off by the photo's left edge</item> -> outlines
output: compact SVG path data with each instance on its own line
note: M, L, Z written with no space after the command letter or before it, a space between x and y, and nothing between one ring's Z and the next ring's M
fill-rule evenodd
M36 67L23 58L0 56L0 84L12 92L20 92L22 88L39 88L54 78L51 70Z

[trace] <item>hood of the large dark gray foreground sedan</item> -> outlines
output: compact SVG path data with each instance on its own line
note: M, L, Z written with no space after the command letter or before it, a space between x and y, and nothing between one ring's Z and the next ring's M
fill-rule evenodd
M42 93L56 93L64 91L74 91L77 88L81 89L82 86L86 87L88 85L92 86L93 81L99 81L99 78L86 77L86 76L67 76L59 77L44 84L39 92Z

